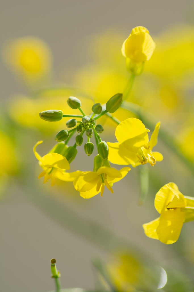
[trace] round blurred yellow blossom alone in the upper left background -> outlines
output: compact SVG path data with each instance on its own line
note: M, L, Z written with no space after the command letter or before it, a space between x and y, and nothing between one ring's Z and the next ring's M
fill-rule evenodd
M47 75L52 66L49 46L36 37L22 37L8 41L3 50L5 62L28 81Z

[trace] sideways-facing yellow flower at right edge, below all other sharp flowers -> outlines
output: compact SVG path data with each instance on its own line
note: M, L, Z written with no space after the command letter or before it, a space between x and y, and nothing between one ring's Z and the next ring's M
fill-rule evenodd
M181 194L175 183L168 183L157 192L154 206L159 218L143 224L145 234L165 244L177 241L183 223L194 220L194 197Z

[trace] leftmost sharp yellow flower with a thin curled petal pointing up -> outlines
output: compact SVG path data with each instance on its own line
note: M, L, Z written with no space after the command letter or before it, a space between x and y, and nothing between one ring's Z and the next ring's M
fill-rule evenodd
M41 157L36 152L37 145L41 144L43 141L38 141L33 147L33 152L35 157L39 160L39 165L44 169L38 176L41 178L44 176L44 182L46 183L49 178L51 178L51 186L55 184L55 179L64 180L66 182L73 181L81 171L77 170L74 172L66 173L66 169L70 169L69 162L67 159L58 153L48 153L45 156Z

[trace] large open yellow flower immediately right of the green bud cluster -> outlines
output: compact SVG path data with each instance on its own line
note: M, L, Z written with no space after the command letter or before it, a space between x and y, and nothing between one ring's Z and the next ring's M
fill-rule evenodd
M121 122L116 130L116 143L108 144L108 159L111 163L136 167L149 162L152 166L156 161L161 161L163 156L159 152L152 152L157 143L160 122L155 126L154 132L149 140L144 124L135 118L129 118Z

